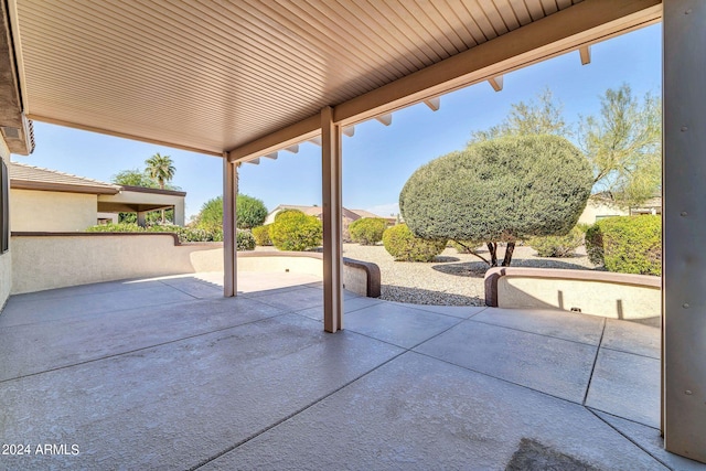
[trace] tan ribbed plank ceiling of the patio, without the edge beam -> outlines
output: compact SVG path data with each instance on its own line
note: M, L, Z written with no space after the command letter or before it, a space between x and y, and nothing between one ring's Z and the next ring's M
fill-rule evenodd
M36 120L221 154L581 0L10 0Z

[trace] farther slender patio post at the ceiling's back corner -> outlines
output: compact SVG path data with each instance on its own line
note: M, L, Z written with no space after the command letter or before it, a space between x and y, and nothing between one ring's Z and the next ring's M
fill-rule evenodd
M236 205L238 170L223 154L223 296L237 295Z

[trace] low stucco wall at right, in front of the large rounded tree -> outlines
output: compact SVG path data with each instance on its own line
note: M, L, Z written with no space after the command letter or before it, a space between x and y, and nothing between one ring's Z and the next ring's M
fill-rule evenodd
M485 303L499 308L560 309L613 319L662 314L661 279L644 275L545 268L492 268Z

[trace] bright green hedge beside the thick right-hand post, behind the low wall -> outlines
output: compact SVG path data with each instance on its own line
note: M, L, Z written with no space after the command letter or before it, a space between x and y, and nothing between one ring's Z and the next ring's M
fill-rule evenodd
M662 218L617 216L601 220L586 233L591 263L608 271L662 275Z

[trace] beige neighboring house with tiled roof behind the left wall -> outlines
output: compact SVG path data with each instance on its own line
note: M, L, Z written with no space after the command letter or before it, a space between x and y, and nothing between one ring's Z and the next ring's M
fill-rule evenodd
M117 213L145 214L174 210L174 224L184 225L186 193L124 186L56 170L9 162L10 225L14 232L76 232L116 221Z

